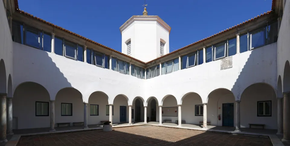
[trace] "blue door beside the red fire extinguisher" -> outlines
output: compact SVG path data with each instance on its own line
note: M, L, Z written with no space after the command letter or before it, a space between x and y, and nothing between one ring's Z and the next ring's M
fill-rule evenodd
M234 127L234 103L223 104L223 126Z

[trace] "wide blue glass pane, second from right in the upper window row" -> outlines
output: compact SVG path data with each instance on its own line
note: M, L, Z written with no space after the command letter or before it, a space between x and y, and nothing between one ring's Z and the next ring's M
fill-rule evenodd
M250 33L252 49L265 45L265 28Z

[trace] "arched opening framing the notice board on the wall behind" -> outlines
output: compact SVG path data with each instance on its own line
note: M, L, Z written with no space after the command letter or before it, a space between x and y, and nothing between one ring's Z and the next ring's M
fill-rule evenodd
M162 120L178 120L177 100L173 95L166 95L162 101Z

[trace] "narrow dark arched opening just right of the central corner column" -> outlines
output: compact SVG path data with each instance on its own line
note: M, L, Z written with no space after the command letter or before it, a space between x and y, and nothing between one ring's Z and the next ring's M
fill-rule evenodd
M150 97L146 101L147 110L149 109L150 112L147 112L149 116L150 122L157 122L159 120L159 107L158 107L158 100L155 97ZM149 122L147 121L147 122Z

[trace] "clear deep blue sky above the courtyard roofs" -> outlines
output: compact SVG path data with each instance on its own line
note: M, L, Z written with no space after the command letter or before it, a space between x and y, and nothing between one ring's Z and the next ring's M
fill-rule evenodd
M19 8L121 52L120 26L144 0L18 0ZM170 52L271 10L272 0L147 0L169 26Z

